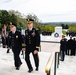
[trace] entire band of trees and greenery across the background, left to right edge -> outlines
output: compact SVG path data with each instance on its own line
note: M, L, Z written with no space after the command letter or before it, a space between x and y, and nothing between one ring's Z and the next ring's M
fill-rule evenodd
M0 30L3 26L3 24L7 24L9 26L10 22L13 22L15 24L17 24L17 28L27 28L27 23L26 23L26 19L27 18L32 18L34 19L34 27L37 28L40 33L42 31L50 31L50 32L54 32L54 28L56 26L55 25L50 25L50 24L42 24L41 21L38 19L38 17L35 14L28 14L28 15L24 15L21 14L18 11L14 11L14 10L0 10ZM57 24L59 26L62 26L63 29L68 29L69 31L74 31L76 32L76 25L73 24Z

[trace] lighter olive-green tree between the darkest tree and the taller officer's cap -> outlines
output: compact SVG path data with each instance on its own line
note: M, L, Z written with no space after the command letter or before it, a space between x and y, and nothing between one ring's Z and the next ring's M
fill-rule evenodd
M20 27L23 27L24 29L26 28L26 19L21 15L20 12L14 11L14 10L10 10L9 14L10 15L14 14L13 15L14 16L14 20L16 19L14 22L17 24L18 28L20 28Z

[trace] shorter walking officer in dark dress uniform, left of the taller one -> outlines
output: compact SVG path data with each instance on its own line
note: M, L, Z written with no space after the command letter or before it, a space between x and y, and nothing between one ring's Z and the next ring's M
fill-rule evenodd
M13 55L14 55L14 64L16 67L16 70L19 70L22 62L20 60L19 54L21 49L24 47L23 39L21 36L21 32L16 30L16 25L11 24L10 25L11 31L8 35L8 48L12 47Z

